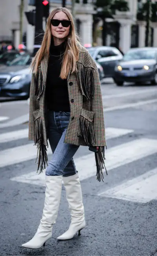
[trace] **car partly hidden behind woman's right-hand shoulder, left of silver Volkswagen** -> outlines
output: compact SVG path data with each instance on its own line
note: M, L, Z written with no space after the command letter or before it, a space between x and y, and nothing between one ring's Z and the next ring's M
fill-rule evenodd
M97 46L87 48L91 57L97 61L104 70L105 77L113 77L117 63L123 58L121 52L112 46Z

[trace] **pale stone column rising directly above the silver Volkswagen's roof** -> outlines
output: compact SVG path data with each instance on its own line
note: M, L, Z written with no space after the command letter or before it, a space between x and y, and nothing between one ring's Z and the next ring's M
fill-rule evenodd
M131 46L131 23L127 22L127 20L126 21L119 20L119 22L120 22L119 47L124 53L126 53Z

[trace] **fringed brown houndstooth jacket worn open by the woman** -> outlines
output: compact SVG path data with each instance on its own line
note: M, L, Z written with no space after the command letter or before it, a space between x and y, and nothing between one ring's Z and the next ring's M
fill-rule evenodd
M38 67L37 77L32 72L29 97L29 140L33 140L37 145L40 172L47 163L47 106L45 97L47 66L48 58L45 55ZM100 146L99 151L95 152L95 160L97 180L100 181L100 178L103 180L102 169L105 168L104 147L106 146L106 139L99 72L88 50L81 45L79 45L77 72L72 74L70 68L67 85L70 119L64 143Z

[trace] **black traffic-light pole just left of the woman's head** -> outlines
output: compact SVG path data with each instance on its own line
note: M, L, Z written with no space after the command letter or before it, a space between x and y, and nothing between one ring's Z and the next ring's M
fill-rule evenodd
M43 27L42 27L42 20L43 20L43 5L42 0L36 0L36 14L35 14L35 45L41 45L43 39ZM34 54L37 52L37 49L34 49Z

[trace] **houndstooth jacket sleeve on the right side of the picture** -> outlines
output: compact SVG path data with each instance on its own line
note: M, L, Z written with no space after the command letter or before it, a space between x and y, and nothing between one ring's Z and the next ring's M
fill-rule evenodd
M99 72L96 65L93 70L93 89L94 94L91 102L91 108L94 112L93 133L95 137L95 144L93 146L106 146L102 93Z

